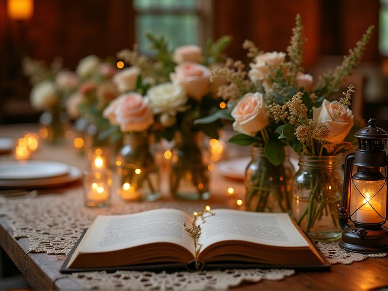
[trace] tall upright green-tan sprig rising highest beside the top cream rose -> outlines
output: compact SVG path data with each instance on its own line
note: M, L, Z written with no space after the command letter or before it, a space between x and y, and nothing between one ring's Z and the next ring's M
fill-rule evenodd
M302 55L303 44L306 38L303 36L302 19L299 14L295 17L295 27L292 29L290 46L287 47L287 52L290 57L290 75L291 83L295 82L297 74L302 71Z

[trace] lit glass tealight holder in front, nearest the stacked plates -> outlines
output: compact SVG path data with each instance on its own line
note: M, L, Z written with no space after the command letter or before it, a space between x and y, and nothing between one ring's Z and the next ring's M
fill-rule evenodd
M108 207L111 202L112 171L86 170L83 171L83 193L85 206Z

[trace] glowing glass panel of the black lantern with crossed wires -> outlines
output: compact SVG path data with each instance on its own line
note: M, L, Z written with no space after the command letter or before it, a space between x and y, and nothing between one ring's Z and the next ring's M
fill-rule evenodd
M387 206L386 179L364 181L352 178L350 219L361 224L384 223Z

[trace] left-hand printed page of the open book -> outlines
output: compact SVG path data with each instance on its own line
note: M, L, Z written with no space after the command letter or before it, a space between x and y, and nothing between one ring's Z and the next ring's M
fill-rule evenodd
M195 254L193 239L183 223L193 219L175 209L149 210L128 215L100 215L82 241L82 253L109 252L154 242L179 244Z

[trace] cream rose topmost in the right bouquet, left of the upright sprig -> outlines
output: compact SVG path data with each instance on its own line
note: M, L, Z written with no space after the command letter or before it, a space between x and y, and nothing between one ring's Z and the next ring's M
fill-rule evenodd
M270 67L276 70L285 60L284 52L273 51L260 54L255 58L254 63L249 64L251 69L248 76L253 82L263 81L271 73Z

